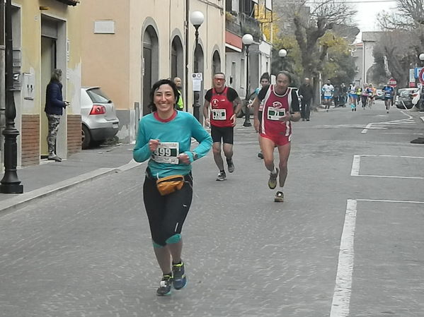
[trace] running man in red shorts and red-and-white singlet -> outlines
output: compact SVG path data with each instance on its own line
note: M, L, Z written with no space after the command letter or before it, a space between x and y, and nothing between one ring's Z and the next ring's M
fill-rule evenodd
M280 174L280 188L274 201L284 201L283 187L287 178L287 162L290 156L290 141L292 138L291 121L299 121L299 96L297 90L290 88L292 76L287 71L277 74L275 85L264 87L258 97L253 100L255 130L259 133L260 149L263 162L270 171L268 186L277 187L277 177ZM263 102L263 112L259 119L259 105ZM278 148L280 163L274 165L274 148ZM280 173L279 173L280 172Z

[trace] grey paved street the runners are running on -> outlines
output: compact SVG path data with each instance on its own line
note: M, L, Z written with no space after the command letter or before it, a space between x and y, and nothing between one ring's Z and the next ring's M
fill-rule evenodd
M424 122L314 112L274 203L239 120L227 181L212 153L193 167L185 289L156 297L142 164L0 214L0 316L424 316Z

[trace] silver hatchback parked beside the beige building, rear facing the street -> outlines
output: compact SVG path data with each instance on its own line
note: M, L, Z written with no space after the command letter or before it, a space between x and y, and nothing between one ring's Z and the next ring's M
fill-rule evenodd
M115 105L100 87L81 88L82 148L100 144L118 133Z

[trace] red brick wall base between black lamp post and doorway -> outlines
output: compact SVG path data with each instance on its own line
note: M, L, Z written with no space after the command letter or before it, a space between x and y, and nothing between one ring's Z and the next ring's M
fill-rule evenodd
M23 114L21 130L21 165L40 164L40 116Z

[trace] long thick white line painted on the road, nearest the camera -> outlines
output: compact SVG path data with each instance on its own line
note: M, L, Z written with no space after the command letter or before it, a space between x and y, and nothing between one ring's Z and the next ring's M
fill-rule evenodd
M356 206L357 202L355 200L348 199L345 223L340 239L336 286L334 287L333 301L331 302L330 317L349 316L350 293L352 292Z

